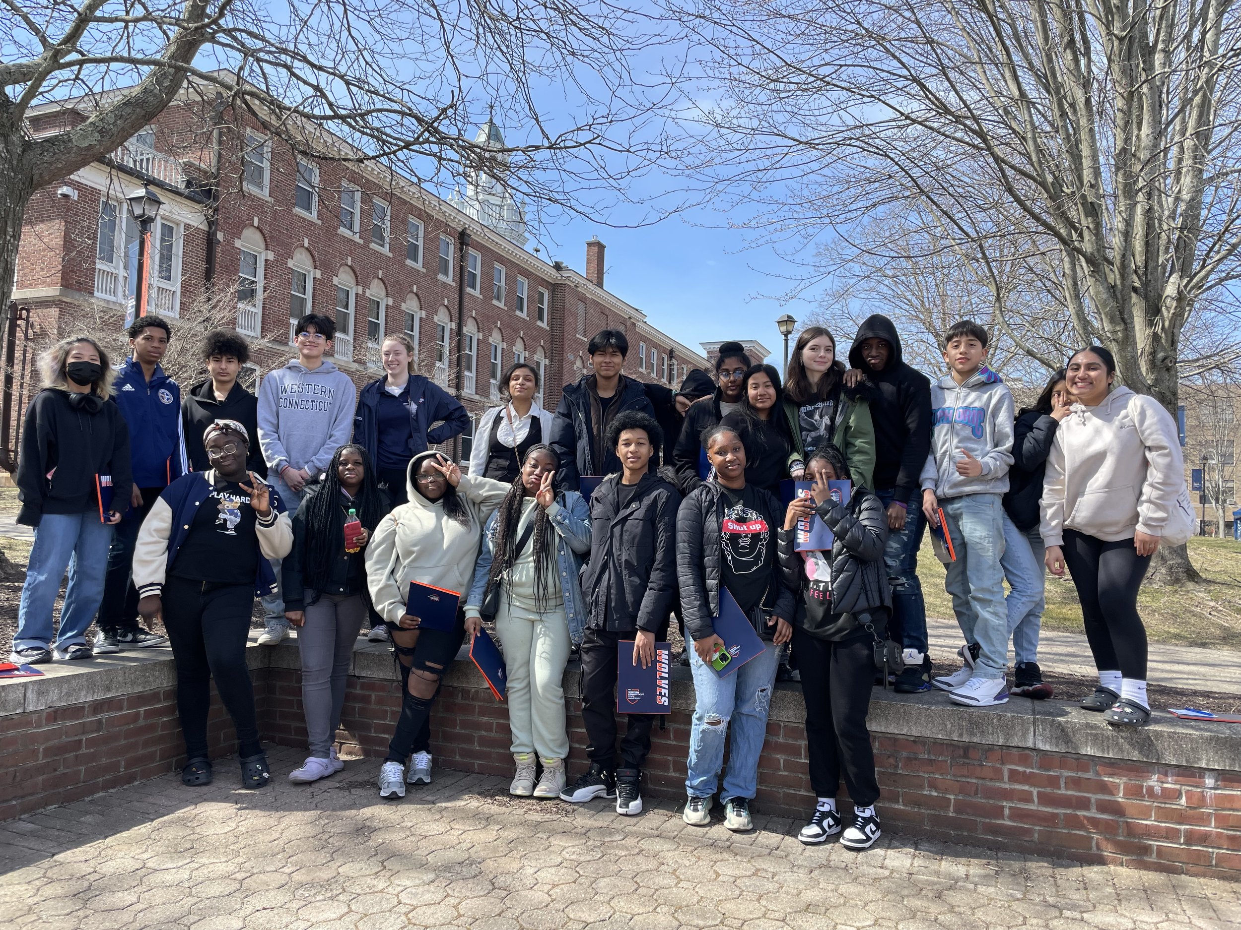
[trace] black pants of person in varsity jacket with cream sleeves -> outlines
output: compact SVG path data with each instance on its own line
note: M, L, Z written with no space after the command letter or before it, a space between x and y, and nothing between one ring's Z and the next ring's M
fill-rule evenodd
M164 585L164 626L176 662L176 713L190 759L207 755L211 680L237 730L237 754L262 751L254 686L246 667L246 635L254 584L212 584L169 578Z

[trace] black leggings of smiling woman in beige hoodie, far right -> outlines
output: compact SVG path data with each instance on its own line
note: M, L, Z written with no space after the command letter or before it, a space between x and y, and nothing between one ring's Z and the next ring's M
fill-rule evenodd
M1065 531L1065 564L1082 604L1086 640L1101 672L1147 678L1147 627L1138 616L1138 588L1150 567L1133 539L1103 542Z

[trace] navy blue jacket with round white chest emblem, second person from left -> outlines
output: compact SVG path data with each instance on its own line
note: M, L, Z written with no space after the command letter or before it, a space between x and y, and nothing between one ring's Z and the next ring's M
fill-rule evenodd
M117 370L112 399L129 427L137 487L165 487L190 470L181 429L181 388L160 366L148 384L143 366L127 358Z

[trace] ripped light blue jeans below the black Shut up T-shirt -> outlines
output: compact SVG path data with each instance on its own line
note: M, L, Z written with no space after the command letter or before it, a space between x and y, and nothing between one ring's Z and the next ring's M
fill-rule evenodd
M730 720L732 742L720 797L752 799L758 792L758 756L767 737L767 713L779 663L779 647L764 645L761 655L724 678L692 647L689 650L696 696L685 776L685 794L690 797L710 797L719 787Z

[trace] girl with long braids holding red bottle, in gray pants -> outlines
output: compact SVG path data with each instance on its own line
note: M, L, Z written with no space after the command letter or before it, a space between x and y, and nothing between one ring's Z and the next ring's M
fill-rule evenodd
M310 755L289 781L308 784L345 764L333 745L359 630L366 620L366 543L392 507L371 458L350 443L293 515L293 549L280 564L284 616L298 627L302 706Z

